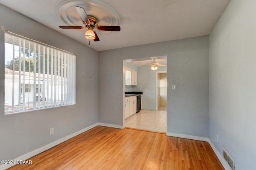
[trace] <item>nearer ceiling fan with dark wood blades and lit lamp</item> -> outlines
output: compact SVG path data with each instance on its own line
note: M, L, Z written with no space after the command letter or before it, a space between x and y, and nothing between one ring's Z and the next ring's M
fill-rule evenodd
M82 22L84 24L84 27L82 26L59 26L63 29L88 29L84 37L86 39L93 39L94 41L100 41L97 33L93 31L93 29L98 29L100 31L120 31L120 26L100 26L98 25L98 19L94 16L87 15L84 8L80 6L75 6L78 14L82 18Z

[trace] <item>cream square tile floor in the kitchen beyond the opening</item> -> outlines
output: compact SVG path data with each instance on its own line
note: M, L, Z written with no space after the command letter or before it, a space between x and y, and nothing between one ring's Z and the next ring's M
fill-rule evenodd
M166 132L166 111L141 110L125 120L125 126L150 131Z

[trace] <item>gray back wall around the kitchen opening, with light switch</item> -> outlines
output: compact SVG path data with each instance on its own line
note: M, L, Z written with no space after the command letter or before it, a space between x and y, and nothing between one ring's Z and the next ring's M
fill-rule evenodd
M99 122L123 125L123 60L162 55L167 55L167 132L208 137L208 36L100 51Z

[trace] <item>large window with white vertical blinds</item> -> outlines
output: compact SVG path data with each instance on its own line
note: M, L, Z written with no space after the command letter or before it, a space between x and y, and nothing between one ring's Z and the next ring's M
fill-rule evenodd
M4 112L75 104L76 56L5 32Z

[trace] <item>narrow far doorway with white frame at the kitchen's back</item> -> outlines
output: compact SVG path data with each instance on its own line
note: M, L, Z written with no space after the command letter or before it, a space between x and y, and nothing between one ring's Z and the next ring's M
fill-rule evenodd
M156 72L156 110L166 111L167 106L167 72Z

